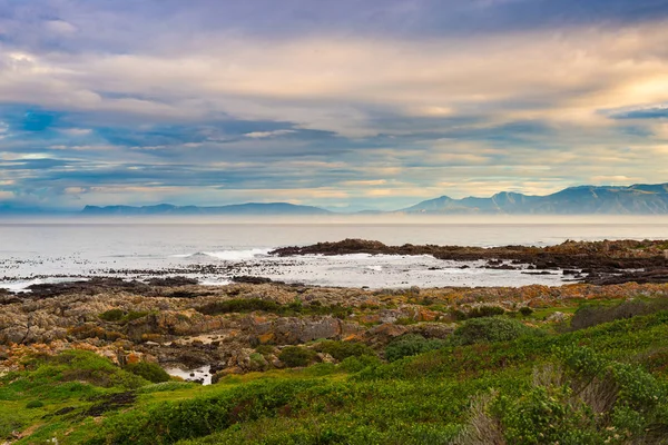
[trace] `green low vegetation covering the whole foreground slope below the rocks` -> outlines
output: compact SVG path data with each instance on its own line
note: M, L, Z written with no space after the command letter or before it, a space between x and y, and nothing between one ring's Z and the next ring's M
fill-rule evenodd
M338 365L205 387L67 352L0 377L0 441L32 427L18 444L662 444L667 336L668 312L561 334L481 317L446 340L404 335L387 363L320 342L281 359L304 366L317 350Z

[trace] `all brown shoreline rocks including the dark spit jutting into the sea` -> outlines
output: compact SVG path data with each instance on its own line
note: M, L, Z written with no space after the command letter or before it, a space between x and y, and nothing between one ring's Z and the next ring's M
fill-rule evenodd
M554 287L369 289L244 275L228 285L205 286L191 277L154 274L143 281L94 277L0 290L0 373L19 369L27 355L72 348L95 350L119 365L153 362L214 383L229 374L283 368L282 353L291 346L312 350L313 363L335 363L318 348L321 340L363 344L382 356L396 337L446 338L462 317L490 307L513 315L601 297L667 296L667 247L666 241L567 241L485 249L347 239L273 253L432 255L484 260L491 269L572 276L573 283ZM544 323L568 314L550 317Z

